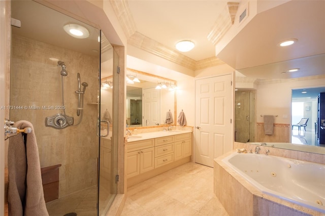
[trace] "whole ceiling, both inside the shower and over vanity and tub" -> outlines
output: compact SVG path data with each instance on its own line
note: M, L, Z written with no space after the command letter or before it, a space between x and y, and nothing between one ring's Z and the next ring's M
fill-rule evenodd
M193 71L226 63L244 76L260 79L324 75L325 55L318 54L325 53L325 1L257 0L257 12L249 13L251 20L245 26L236 26L236 20L247 1L236 2L238 11L231 11L228 2L223 0L110 1L130 46ZM274 2L278 6L265 6ZM93 51L99 48L98 29L80 22L92 31L88 39L91 45L83 47L78 40L71 41L62 29L73 18L58 15L33 1L13 1L12 5L12 17L21 20L21 28L13 28L13 32L99 55ZM235 24L231 23L232 14ZM209 35L216 32L220 37L213 41ZM286 48L277 46L288 38L296 38L298 43ZM189 52L178 52L174 46L181 40L191 40L196 47ZM226 46L220 49L220 44ZM299 73L281 74L286 67L298 64L302 68Z

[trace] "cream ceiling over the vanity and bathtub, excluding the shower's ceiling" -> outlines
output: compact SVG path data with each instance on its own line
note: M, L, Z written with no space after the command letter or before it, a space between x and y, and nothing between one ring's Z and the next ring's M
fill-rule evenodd
M236 2L239 8L247 4L247 1ZM230 22L227 1L125 1L126 9L123 10L133 25L129 38L140 33L152 43L159 43L173 51L176 42L191 40L196 47L181 55L196 62L217 57L244 75L262 76L264 79L324 75L324 55L318 56L316 63L297 59L325 53L325 1L276 1L279 5L267 8L270 2L275 1L257 1L257 13L251 13L254 17L244 28L236 27L235 21L231 28L220 29L229 43L218 53L216 47L219 44L209 41L208 35L215 30L217 22L224 19ZM121 14L121 11L116 11L116 14ZM237 11L235 20L240 12ZM225 14L228 17L224 17ZM229 33L231 31L236 34ZM298 39L298 43L285 48L277 46L279 42L291 38ZM129 41L132 44L132 40ZM146 50L150 52L150 49ZM158 55L157 49L152 50ZM277 70L274 70L275 62L281 62ZM269 64L273 67L267 68ZM263 71L247 70L261 65L265 66ZM299 73L281 74L287 67L295 65L302 67Z

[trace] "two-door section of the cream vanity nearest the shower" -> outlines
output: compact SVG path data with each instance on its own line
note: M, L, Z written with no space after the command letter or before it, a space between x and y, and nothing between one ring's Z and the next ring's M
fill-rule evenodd
M154 169L154 139L135 141L126 151L127 178Z

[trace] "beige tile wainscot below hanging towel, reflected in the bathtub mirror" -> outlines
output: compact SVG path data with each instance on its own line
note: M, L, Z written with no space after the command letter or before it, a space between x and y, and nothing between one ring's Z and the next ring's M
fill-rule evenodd
M272 135L265 135L264 123L257 123L256 125L256 142L290 142L291 129L289 124L274 124Z

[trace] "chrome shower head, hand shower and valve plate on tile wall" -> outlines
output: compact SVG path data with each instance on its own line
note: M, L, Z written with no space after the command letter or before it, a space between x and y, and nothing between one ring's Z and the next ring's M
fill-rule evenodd
M83 116L83 96L86 91L86 87L88 86L88 83L83 82L81 83L80 81L80 74L77 74L77 80L78 80L78 90L75 91L76 94L78 94L78 108L77 108L77 116L80 116L79 121L77 124L74 124L74 118L71 116L68 116L66 114L66 106L64 105L64 82L63 82L63 77L68 76L68 71L67 71L67 66L63 61L58 61L57 66L61 66L61 94L62 94L62 110L63 114L55 114L50 117L45 118L45 125L47 127L54 127L56 129L62 129L66 128L68 126L77 126L81 123L82 121L82 116ZM81 83L81 84L80 84ZM83 86L81 90L81 86Z

